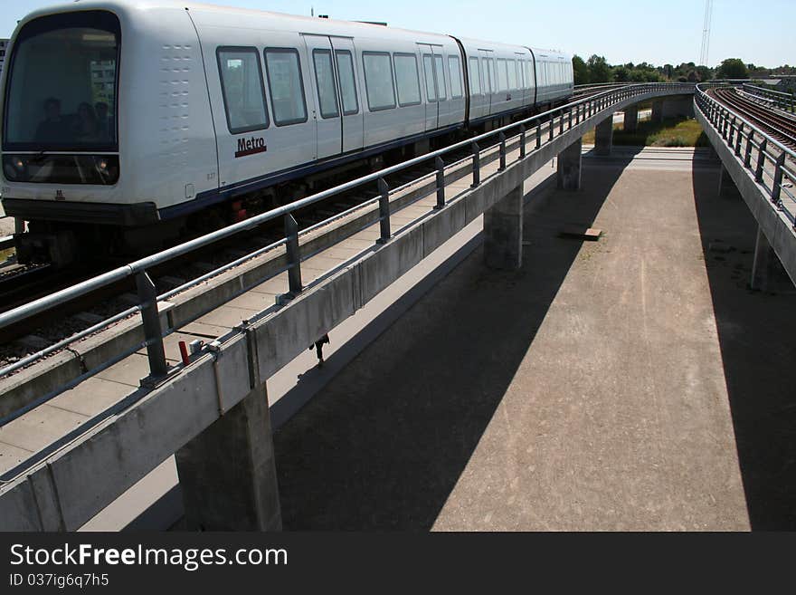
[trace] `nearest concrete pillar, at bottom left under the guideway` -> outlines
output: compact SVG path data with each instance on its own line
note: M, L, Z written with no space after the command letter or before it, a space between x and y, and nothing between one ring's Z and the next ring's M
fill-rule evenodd
M280 531L265 383L176 453L191 531Z

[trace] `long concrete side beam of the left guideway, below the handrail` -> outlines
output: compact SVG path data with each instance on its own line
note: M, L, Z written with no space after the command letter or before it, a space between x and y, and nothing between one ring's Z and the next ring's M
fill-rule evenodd
M610 110L665 94L633 97ZM155 389L139 389L126 410L0 489L0 530L81 527L246 397L252 389L250 366L257 366L262 379L270 377L594 128L607 111L508 164L386 245L374 245L370 253L328 274L278 311L251 321L216 353L203 355Z

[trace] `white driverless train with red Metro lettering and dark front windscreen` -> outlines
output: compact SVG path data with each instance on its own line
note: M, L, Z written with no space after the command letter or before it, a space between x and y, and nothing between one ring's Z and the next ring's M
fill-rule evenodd
M20 22L0 83L18 252L65 261L156 247L564 102L573 70L561 53L379 24L80 0Z

